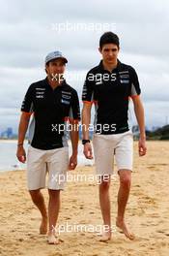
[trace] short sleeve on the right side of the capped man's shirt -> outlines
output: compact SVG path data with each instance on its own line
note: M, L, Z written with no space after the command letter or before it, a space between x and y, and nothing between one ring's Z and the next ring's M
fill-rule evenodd
M77 92L75 90L73 90L72 92L69 117L70 119L80 121L79 99L78 99Z

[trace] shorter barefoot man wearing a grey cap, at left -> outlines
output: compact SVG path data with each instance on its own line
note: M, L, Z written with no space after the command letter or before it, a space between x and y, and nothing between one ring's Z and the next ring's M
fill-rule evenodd
M58 243L55 226L60 208L60 191L64 189L68 169L77 165L78 129L80 119L79 101L76 91L63 78L68 60L56 50L45 57L44 80L30 85L25 95L18 129L17 158L25 163L23 147L30 116L30 146L27 153L27 184L33 203L40 209L42 223L40 233L47 232L48 243ZM70 120L72 155L69 162L66 121ZM41 189L45 187L48 173L48 210ZM62 176L62 178L60 178ZM61 181L62 180L62 181Z

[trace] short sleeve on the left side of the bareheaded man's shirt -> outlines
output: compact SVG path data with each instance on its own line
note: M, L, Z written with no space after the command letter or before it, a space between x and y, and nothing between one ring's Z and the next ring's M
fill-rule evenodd
M94 75L88 73L82 90L82 101L93 103L94 101Z

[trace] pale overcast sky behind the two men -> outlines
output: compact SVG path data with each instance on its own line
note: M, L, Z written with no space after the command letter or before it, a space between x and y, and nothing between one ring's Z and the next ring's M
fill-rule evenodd
M0 132L16 130L24 94L45 77L50 51L67 56L67 78L81 98L107 30L120 37L119 59L138 73L147 126L169 122L169 1L0 0L0 6Z

